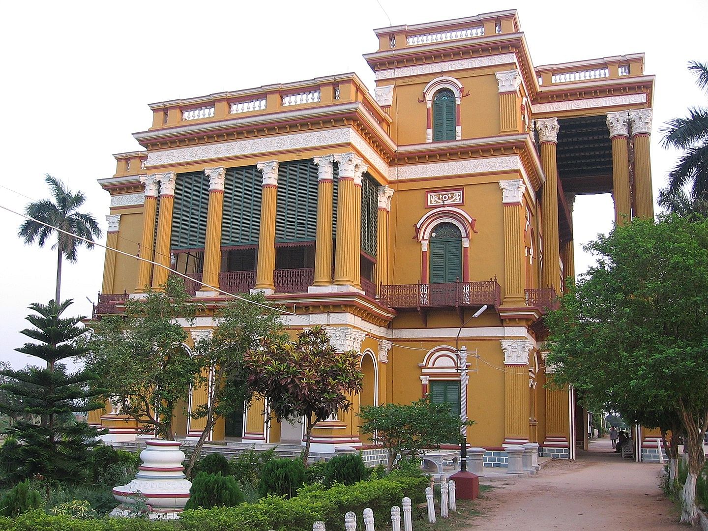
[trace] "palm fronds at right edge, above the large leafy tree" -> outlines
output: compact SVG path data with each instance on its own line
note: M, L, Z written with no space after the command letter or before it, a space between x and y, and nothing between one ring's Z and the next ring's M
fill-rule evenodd
M692 61L688 69L696 83L708 92L708 64ZM668 193L690 189L692 199L708 199L708 108L689 108L686 118L674 118L661 128L663 147L683 150L678 164L668 174Z

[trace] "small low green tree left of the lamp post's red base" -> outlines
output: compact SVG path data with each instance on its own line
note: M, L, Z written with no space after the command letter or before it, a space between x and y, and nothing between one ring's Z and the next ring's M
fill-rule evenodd
M424 450L459 440L463 426L449 404L433 404L428 396L407 405L364 406L359 416L362 431L372 433L372 442L387 450L389 472L398 455L416 459ZM473 424L467 421L465 426Z

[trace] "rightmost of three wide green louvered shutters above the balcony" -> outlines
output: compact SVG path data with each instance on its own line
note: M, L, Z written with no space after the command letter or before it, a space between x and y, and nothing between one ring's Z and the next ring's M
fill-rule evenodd
M275 242L315 241L317 166L312 159L278 165Z

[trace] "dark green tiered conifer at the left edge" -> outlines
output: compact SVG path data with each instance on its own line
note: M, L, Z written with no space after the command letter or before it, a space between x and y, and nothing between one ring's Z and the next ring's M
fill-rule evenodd
M103 406L96 397L103 389L90 384L98 377L89 370L67 374L60 360L77 358L85 349L76 339L89 329L79 326L84 316L62 318L71 300L59 306L31 304L35 314L27 320L34 328L21 331L38 343L25 343L18 352L36 356L47 367L25 367L23 370L1 370L7 379L1 385L12 399L2 401L0 411L18 420L9 428L9 438L0 449L0 464L6 481L21 481L41 474L57 481L81 481L86 476L86 460L98 443L96 428L76 422L73 413L91 411ZM40 418L39 423L26 415Z

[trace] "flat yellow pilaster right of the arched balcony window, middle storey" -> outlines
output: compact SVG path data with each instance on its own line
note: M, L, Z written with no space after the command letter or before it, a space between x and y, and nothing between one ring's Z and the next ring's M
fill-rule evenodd
M521 179L499 181L504 209L504 300L508 307L525 306L524 207L526 185Z

